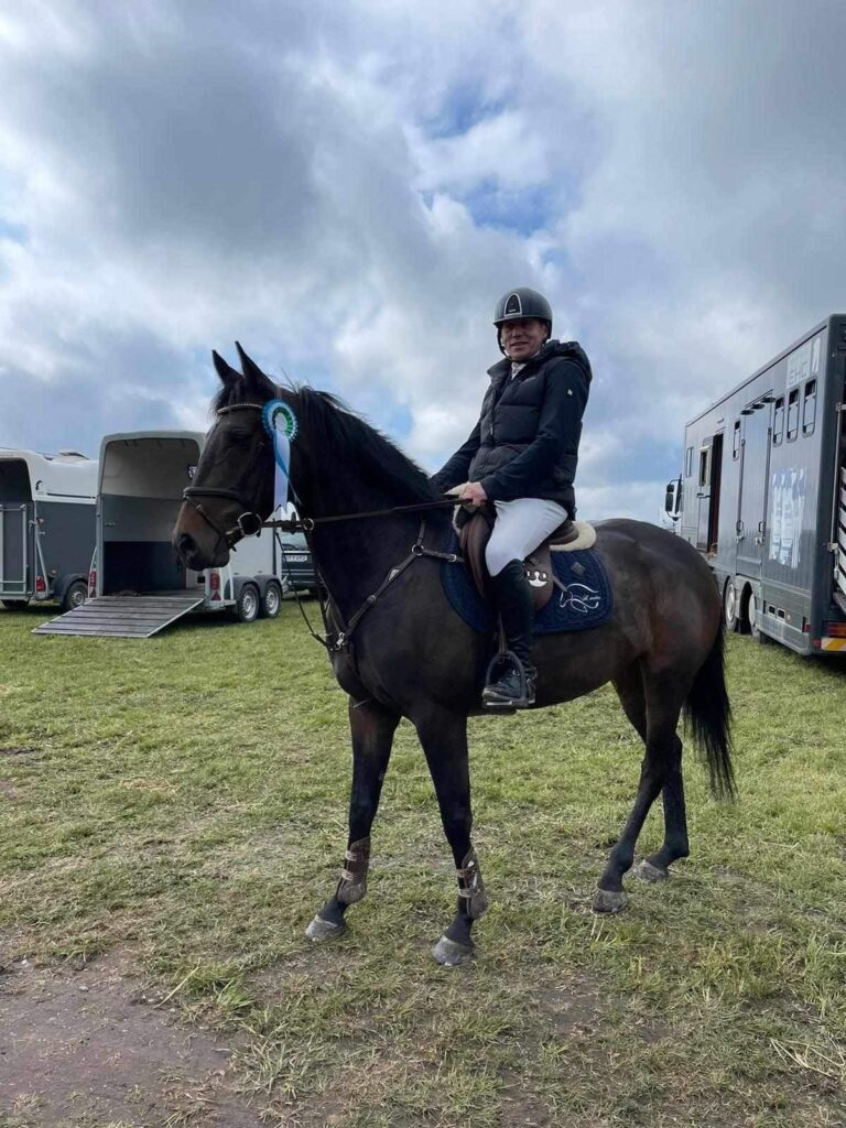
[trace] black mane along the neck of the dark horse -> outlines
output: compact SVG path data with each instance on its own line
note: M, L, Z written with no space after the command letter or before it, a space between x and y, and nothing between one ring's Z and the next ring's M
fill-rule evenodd
M235 404L266 403L276 396L291 404L302 440L327 465L334 460L355 466L364 485L397 503L439 496L416 462L329 391L292 381L277 386L263 372L250 372L223 385L212 406L220 411Z

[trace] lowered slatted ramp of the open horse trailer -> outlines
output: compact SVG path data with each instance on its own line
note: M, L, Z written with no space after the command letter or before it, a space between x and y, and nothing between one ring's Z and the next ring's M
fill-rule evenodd
M201 607L203 597L184 591L155 596L97 596L81 607L35 627L33 634L108 635L149 638Z

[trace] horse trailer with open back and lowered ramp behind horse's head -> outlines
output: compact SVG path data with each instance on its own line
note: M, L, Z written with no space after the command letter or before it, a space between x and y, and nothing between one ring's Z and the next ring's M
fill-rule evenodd
M106 435L100 446L97 540L88 601L36 634L146 638L190 611L279 615L284 590L277 538L245 537L219 569L186 569L170 544L182 492L205 437L195 431Z

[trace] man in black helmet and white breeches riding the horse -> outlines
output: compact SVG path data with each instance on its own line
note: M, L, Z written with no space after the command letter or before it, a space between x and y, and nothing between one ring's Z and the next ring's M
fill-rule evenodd
M487 370L491 386L479 420L432 484L446 492L466 483L465 504L495 511L485 562L508 649L525 677L506 666L482 699L520 708L535 703L536 681L534 597L522 562L575 517L573 482L591 369L576 342L550 340L553 311L537 290L504 293L494 325L504 360Z

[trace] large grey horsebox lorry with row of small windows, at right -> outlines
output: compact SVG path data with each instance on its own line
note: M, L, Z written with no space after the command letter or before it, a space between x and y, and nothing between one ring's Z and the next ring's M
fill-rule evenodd
M800 654L846 651L846 314L685 429L666 511L705 556L725 625Z

